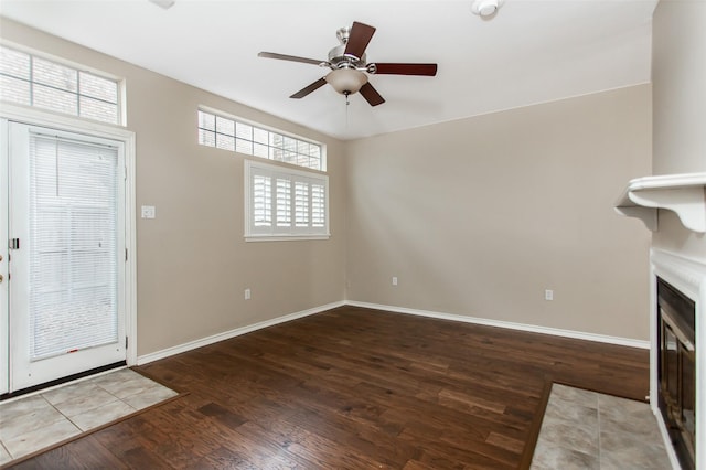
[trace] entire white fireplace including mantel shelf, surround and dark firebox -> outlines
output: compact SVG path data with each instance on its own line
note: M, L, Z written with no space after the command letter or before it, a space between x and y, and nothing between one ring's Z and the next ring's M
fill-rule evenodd
M706 234L706 172L631 180L614 209L652 232L660 211L670 211L684 228L702 234L693 244L670 241L686 256L650 250L650 405L672 464L706 469L706 253L698 238ZM685 306L693 313L680 313Z

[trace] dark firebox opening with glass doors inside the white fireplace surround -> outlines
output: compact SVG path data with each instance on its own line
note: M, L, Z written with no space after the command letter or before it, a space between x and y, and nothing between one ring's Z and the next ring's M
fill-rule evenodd
M695 468L696 306L664 279L657 290L657 407L684 470Z

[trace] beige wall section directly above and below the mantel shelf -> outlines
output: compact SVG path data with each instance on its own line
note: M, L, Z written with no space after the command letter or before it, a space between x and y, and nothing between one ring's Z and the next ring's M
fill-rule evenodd
M654 174L706 171L706 1L662 0L653 18ZM706 235L660 211L655 247L706 260Z

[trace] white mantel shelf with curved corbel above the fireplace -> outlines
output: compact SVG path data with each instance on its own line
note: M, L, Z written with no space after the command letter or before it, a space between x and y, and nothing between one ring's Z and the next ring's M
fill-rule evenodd
M637 178L616 202L616 212L640 218L652 232L660 209L675 212L686 228L706 233L706 173Z

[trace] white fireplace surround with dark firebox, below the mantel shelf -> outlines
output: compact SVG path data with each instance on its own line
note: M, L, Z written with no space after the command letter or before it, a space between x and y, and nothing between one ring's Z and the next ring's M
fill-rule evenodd
M706 468L706 260L652 248L650 261L650 405L674 467Z

